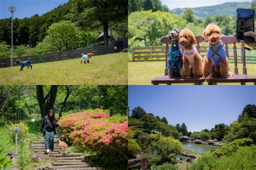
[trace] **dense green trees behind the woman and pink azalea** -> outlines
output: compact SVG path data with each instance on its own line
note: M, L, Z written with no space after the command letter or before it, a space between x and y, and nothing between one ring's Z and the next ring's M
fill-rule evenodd
M41 120L49 109L57 117L86 109L127 114L127 86L0 86L1 122Z

